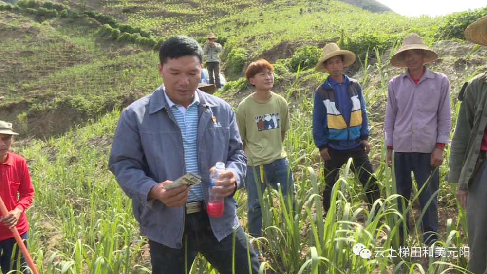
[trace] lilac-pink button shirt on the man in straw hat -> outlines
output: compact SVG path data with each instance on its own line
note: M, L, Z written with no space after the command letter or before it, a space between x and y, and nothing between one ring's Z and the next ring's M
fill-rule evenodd
M450 144L450 83L426 69L418 84L409 70L389 81L384 132L396 152L431 153L436 143Z

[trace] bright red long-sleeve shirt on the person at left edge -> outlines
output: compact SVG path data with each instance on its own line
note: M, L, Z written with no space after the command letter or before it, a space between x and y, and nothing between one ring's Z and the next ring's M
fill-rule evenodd
M25 233L29 230L29 224L23 211L30 206L34 198L34 187L30 181L27 163L22 156L9 152L7 161L0 164L0 195L8 211L15 207L22 210L17 230L20 234ZM13 237L10 229L0 223L0 241Z

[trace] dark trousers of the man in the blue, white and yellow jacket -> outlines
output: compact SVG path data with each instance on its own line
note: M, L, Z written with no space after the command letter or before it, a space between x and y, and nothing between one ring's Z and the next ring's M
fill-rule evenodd
M332 188L338 180L338 171L343 164L348 162L348 159L350 158L353 159L354 169L355 172L358 174L360 183L362 183L364 188L367 188L367 191L365 193L367 203L373 204L375 200L380 198L379 187L376 183L377 179L374 176L371 177L371 174L374 173L374 167L369 160L369 156L365 154L365 148L363 144L346 150L337 150L329 147L328 154L330 154L330 157L332 159L325 161L326 185L325 190L323 191L323 209L325 212L330 209Z

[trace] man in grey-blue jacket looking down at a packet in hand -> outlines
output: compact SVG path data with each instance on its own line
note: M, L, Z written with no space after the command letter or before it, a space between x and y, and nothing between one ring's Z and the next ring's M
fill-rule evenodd
M244 186L247 163L235 113L197 89L203 49L196 40L169 38L159 61L164 84L122 111L108 161L149 239L152 273L186 274L200 252L220 273L257 274L257 256L248 248L233 198ZM208 188L220 161L226 167L216 182L221 188L212 190L224 198L225 209L213 218L206 212ZM188 172L201 176L201 183L163 188Z

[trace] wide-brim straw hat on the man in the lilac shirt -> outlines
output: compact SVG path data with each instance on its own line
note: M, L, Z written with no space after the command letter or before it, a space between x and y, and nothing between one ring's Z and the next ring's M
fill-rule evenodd
M408 66L404 63L401 53L409 50L424 50L426 52L426 56L423 58L423 65L431 63L439 58L437 53L425 45L423 39L421 39L418 34L410 33L404 37L401 48L391 57L391 65L397 68L407 68Z

